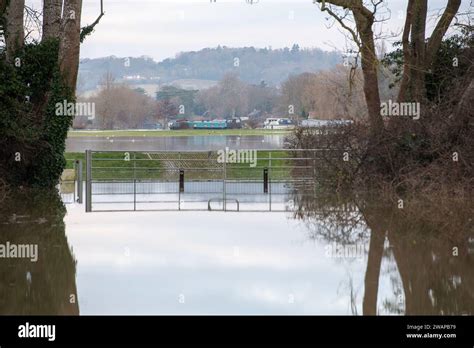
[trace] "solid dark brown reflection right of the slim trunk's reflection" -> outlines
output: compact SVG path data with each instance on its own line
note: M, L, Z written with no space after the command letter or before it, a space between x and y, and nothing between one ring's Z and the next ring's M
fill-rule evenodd
M455 215L452 219L466 219ZM402 278L407 314L473 314L474 258L469 230L393 219L388 238ZM453 247L459 255L453 255Z

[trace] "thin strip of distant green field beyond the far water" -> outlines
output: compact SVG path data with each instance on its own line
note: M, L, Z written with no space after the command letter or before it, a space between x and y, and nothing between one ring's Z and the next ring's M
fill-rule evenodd
M73 137L189 137L211 135L285 135L289 130L269 129L222 129L222 130L104 130L104 131L70 131L68 136Z

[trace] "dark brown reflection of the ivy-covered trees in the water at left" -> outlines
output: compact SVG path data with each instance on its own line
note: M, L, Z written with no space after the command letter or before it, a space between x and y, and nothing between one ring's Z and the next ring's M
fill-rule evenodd
M0 244L38 245L37 262L0 258L0 314L79 314L65 213L58 194L49 191L11 193L0 205Z

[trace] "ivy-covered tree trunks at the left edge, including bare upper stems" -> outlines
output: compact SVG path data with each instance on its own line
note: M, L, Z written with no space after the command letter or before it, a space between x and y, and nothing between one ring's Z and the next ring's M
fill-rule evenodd
M64 170L74 116L82 0L44 0L43 37L25 43L24 0L0 0L0 178L12 186L54 187ZM93 27L88 27L88 33Z

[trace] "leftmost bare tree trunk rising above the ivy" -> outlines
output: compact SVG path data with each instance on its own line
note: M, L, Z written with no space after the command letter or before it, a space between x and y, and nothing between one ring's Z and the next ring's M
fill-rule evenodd
M23 15L25 12L25 0L10 0L5 14L5 45L6 59L12 62L15 52L21 49L25 40L25 29L23 27Z

